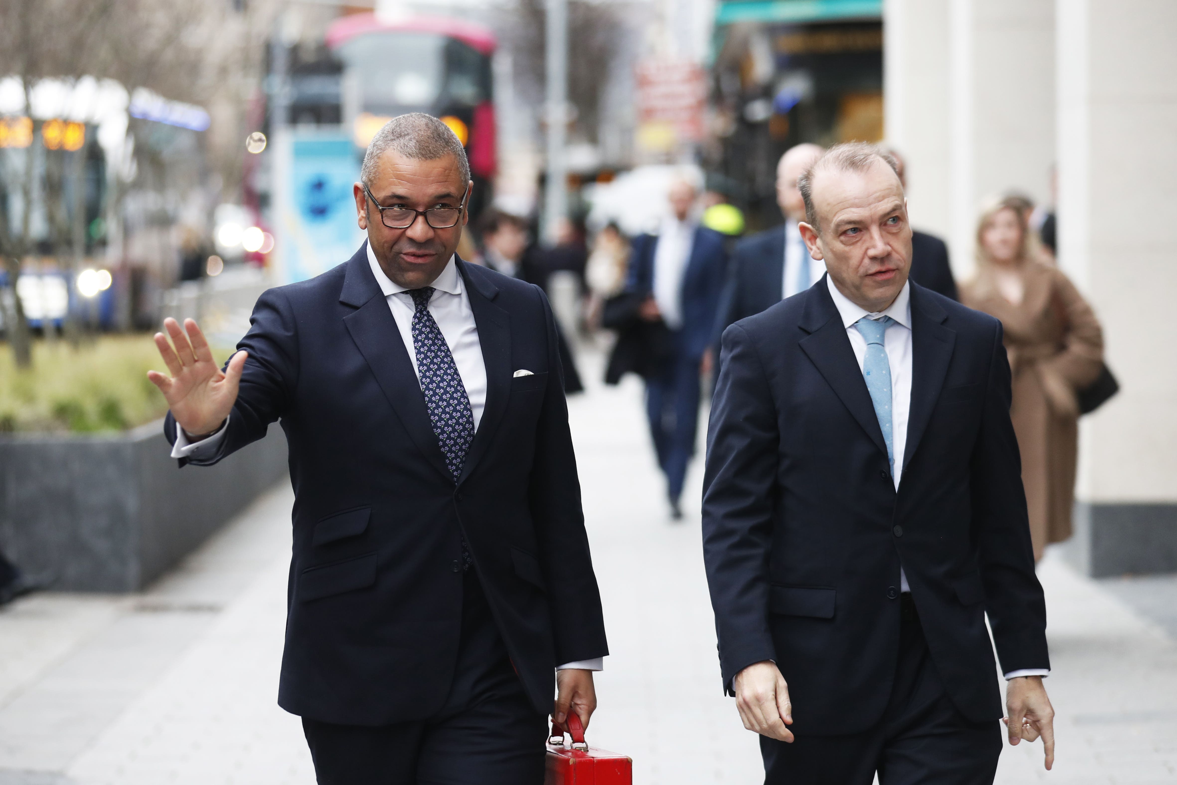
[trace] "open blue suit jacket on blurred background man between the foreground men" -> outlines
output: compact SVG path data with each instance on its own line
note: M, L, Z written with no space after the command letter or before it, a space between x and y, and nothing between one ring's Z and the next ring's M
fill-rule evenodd
M658 238L639 234L633 238L626 291L651 294L654 285L654 251ZM683 273L683 328L676 345L685 357L701 358L711 344L716 310L724 285L727 252L724 235L699 226L691 241L691 258Z

